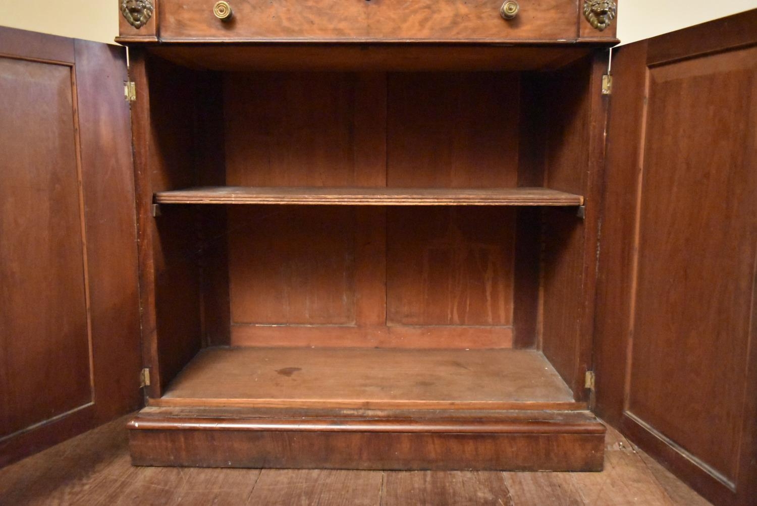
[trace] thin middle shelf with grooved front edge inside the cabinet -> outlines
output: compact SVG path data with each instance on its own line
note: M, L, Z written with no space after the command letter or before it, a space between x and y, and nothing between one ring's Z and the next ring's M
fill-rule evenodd
M581 206L584 197L549 188L256 188L161 191L156 203L347 206Z

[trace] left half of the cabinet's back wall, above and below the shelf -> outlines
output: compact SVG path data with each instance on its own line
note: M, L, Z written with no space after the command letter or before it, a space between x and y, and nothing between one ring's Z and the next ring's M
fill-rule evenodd
M386 184L385 133L375 129L385 122L384 74L254 73L225 81L229 184ZM384 228L379 209L231 210L232 342L276 333L260 324L350 324L345 344L366 346L361 334L385 325Z

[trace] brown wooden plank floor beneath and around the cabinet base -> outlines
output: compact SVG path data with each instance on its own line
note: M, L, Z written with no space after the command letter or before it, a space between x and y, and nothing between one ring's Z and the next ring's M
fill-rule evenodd
M602 473L132 467L126 420L0 469L0 504L707 506L608 429Z

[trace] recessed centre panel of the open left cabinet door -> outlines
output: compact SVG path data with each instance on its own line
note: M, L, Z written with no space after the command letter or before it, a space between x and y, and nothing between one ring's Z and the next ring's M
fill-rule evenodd
M0 57L0 439L93 402L71 73Z

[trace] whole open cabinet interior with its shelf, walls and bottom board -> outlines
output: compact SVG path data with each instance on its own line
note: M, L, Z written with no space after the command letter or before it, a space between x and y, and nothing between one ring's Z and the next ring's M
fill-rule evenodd
M585 402L592 62L461 67L148 57L152 404Z

